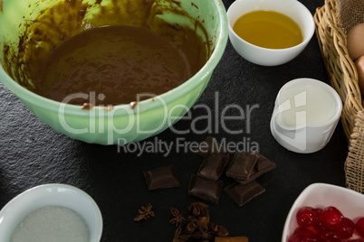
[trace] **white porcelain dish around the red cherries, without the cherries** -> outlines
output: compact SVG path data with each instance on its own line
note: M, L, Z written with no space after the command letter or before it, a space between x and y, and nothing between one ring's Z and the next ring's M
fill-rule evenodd
M364 216L364 195L336 185L326 183L311 184L294 201L285 220L282 242L287 242L287 238L297 228L296 213L305 206L321 209L334 206L340 209L345 217L356 219ZM354 236L353 238L357 237Z

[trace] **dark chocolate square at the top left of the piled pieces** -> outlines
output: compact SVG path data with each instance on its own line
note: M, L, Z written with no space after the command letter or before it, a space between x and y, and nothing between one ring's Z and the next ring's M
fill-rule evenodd
M229 161L230 154L208 154L202 163L197 175L210 180L218 180L224 172L225 166Z

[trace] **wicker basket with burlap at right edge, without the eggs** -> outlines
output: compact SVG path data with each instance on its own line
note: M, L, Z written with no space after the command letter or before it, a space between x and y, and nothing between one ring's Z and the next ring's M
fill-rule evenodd
M347 50L346 33L349 29L342 27L340 19L340 4L348 3L343 1L349 0L325 0L325 5L317 8L314 20L331 85L339 93L343 104L341 123L350 141L344 167L346 185L351 190L364 193L364 111L358 72ZM349 28L354 24L350 23Z

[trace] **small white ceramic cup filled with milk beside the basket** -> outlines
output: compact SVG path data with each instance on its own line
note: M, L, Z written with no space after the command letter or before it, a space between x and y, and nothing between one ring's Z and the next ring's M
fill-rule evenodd
M317 79L293 79L275 99L271 131L275 140L296 153L321 150L340 120L338 93Z

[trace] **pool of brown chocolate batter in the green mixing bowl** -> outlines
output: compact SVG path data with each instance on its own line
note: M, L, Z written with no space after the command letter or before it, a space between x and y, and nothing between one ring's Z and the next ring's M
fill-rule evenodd
M147 28L107 26L62 43L43 70L39 94L62 102L70 94L103 94L94 105L118 105L158 95L191 77L186 55ZM150 98L150 96L148 96ZM72 99L82 105L84 99Z

